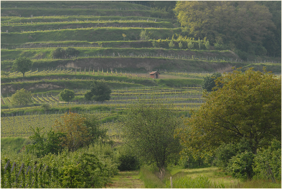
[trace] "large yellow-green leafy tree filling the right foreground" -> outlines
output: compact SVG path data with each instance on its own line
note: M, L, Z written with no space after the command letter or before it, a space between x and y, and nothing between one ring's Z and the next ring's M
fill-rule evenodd
M223 142L245 138L253 151L281 140L281 77L271 73L234 70L216 81L200 110L185 121L182 143L194 152L211 152Z

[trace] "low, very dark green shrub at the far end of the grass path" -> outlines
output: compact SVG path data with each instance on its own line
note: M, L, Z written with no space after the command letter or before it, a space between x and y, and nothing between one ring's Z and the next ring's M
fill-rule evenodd
M134 171L140 168L140 163L135 156L123 154L118 157L118 169L120 171Z

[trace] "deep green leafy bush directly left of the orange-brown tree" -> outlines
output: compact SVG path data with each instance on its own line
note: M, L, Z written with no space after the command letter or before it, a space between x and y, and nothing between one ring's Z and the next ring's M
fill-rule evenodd
M40 134L41 129L39 129L39 127L31 127L31 130L34 132L34 134L29 137L31 144L26 146L27 152L34 153L37 157L41 157L49 153L58 154L60 151L62 151L63 133L54 132L51 129L46 135Z

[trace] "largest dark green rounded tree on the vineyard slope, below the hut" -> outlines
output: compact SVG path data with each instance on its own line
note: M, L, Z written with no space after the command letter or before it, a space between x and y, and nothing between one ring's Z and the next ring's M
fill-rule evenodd
M91 84L91 91L87 92L84 97L86 100L105 101L110 100L112 90L104 81L94 81Z

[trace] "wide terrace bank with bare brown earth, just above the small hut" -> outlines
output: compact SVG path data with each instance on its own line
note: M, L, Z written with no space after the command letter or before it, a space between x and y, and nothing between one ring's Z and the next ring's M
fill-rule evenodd
M9 69L12 61L2 61L3 68ZM93 66L104 69L120 69L127 71L152 71L157 69L166 70L198 70L198 71L231 71L232 67L243 67L243 63L227 62L227 61L203 61L190 59L168 59L156 57L93 57L93 58L78 58L78 59L39 59L34 60L33 69L39 68L81 68L89 69Z

